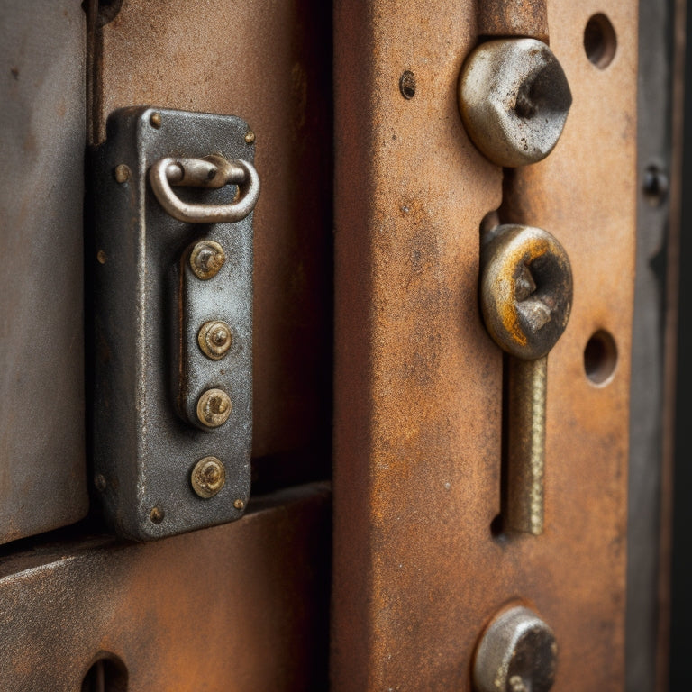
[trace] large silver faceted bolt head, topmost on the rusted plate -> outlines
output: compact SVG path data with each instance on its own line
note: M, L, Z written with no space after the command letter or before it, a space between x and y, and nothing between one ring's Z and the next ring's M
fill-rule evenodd
M535 39L481 43L461 68L458 97L469 137L505 168L545 159L572 105L558 59Z

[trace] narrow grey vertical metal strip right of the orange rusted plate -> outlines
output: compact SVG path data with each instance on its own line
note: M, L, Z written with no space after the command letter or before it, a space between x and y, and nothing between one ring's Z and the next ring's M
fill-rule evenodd
M640 0L639 90L637 99L637 255L631 378L630 471L628 483L628 555L626 606L626 688L629 692L663 690L667 663L661 660L667 631L665 602L666 503L670 488L669 451L670 298L677 250L674 250L678 186L676 149L671 148L671 114L676 105L674 63L678 48L669 45L678 19L671 2ZM679 11L679 10L678 10ZM684 26L684 22L682 24ZM659 167L671 180L660 200L644 194L645 171ZM673 289L677 290L677 289ZM674 328L673 328L674 331ZM657 687L658 681L658 687Z

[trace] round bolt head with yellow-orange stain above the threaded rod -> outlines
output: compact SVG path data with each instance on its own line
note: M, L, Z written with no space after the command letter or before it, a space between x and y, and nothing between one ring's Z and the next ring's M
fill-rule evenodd
M500 348L524 360L547 355L571 305L569 258L551 233L518 224L490 232L481 250L480 308Z

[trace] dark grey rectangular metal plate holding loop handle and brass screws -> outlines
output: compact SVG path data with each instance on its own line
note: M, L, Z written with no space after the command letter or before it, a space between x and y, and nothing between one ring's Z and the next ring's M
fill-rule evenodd
M160 114L160 126L150 123ZM164 157L221 154L252 162L247 123L234 116L191 114L147 107L110 116L107 138L95 152L96 237L88 261L95 269L94 478L114 531L150 540L237 519L250 492L252 416L252 214L239 223L182 223L153 195L150 165ZM130 177L117 182L114 169ZM198 204L227 204L235 187L176 188ZM181 299L181 261L201 239L226 254L213 279ZM196 375L232 399L222 426L203 431L178 414L178 331L189 301L205 319L234 330L232 351L208 361L200 351ZM199 324L201 326L201 323ZM183 354L182 357L185 357ZM222 460L226 483L203 499L190 472L206 456ZM238 502L240 501L240 502ZM154 513L152 514L152 511Z

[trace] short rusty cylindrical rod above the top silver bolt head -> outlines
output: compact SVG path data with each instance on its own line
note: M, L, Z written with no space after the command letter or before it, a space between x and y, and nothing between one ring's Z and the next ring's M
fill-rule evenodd
M548 42L547 0L477 2L479 36L528 36Z

